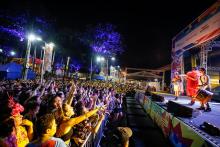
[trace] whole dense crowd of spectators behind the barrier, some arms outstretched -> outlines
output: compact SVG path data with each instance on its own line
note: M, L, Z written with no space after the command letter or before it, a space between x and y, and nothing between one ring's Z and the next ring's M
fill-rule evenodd
M122 98L133 88L100 81L1 81L0 146L80 146L103 115L123 117Z

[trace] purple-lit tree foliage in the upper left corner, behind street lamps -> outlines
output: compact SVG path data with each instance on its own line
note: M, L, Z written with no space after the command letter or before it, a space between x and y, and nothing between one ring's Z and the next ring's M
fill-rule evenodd
M44 39L48 38L48 34L53 31L52 21L45 17L7 10L1 10L0 13L0 48L4 50L5 54L16 50L20 54L19 56L22 56L22 53L25 53L23 50L26 49L26 41L24 40L30 31Z

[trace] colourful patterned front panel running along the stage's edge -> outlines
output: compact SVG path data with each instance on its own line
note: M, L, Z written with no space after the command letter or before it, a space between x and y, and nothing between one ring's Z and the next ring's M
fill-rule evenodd
M143 92L137 91L135 99L140 102L146 113L150 115L153 122L162 129L166 138L176 147L209 147L218 146L207 142L197 134L192 127L182 120L174 117L162 106L145 96ZM220 146L220 145L219 145Z

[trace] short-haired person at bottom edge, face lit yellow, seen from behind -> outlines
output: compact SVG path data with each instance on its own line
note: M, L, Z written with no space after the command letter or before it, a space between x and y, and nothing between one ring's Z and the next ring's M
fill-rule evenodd
M66 147L65 142L53 137L57 130L57 124L53 114L45 114L37 121L38 138L30 142L27 147Z

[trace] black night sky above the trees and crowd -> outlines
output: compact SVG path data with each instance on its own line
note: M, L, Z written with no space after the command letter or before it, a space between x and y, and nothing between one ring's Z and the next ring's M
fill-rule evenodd
M78 60L89 55L74 33L89 24L112 23L124 39L125 51L117 64L126 67L157 68L171 61L171 40L215 0L182 1L7 1L1 8L28 11L53 20L58 46ZM89 59L89 58L87 58ZM89 65L90 61L84 61Z

